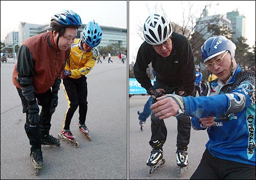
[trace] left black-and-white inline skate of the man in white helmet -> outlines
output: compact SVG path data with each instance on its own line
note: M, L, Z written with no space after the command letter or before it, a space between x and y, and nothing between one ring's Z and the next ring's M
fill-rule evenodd
M149 166L148 175L151 176L156 170L163 166L165 159L163 159L163 151L161 149L152 149L146 165Z

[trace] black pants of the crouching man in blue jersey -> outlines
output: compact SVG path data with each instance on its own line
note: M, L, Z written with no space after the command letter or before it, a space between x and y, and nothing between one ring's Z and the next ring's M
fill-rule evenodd
M213 157L206 149L190 179L255 179L255 166Z

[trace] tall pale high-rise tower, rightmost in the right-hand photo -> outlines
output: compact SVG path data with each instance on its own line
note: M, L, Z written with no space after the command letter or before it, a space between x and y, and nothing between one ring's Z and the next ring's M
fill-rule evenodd
M226 16L228 19L231 20L231 24L234 32L233 39L237 40L237 38L240 36L246 38L246 34L245 34L246 17L243 15L239 15L239 12L237 10L232 12L227 12Z

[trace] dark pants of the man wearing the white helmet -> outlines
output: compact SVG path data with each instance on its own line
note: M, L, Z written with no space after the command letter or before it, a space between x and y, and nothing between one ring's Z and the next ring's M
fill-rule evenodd
M174 91L182 91L179 87L169 87L168 85L162 84L160 82L155 82L156 89L163 88L165 92L172 94ZM156 100L153 99L152 103ZM190 140L190 130L191 130L191 120L189 116L177 117L177 145L185 147L188 146ZM159 119L155 116L155 113L151 113L151 139L149 144L153 148L162 148L166 141L167 129L164 120Z

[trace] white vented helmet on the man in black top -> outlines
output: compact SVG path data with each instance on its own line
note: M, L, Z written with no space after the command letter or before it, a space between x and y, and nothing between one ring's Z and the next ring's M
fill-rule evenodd
M150 14L143 26L143 35L148 44L159 45L172 34L171 23L159 14Z

